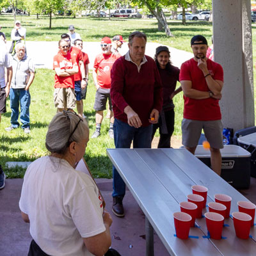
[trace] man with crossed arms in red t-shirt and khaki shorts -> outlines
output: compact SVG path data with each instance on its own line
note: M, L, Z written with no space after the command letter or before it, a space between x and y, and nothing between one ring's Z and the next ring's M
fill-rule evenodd
M73 109L76 106L76 95L74 93L74 74L78 72L78 66L74 58L68 52L68 43L61 39L59 41L60 51L53 58L54 76L54 104L57 112L63 109Z

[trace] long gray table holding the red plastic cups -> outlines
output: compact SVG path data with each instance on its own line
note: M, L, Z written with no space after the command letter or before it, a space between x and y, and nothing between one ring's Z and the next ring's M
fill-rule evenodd
M175 237L172 214L180 211L192 185L208 188L207 203L214 202L214 194L230 195L230 213L238 211L237 201L247 200L188 150L118 148L107 154L146 216L147 256L154 255L153 228L170 255L255 255L256 227L250 239L239 239L231 218L225 219L221 240L207 238L205 218L196 219L198 227L190 228L189 239Z

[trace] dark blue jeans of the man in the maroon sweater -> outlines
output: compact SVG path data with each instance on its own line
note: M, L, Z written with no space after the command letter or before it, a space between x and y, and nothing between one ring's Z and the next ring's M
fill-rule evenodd
M133 140L133 148L151 148L152 125L134 128L129 124L115 118L114 140L116 148L130 148ZM113 193L112 196L124 196L125 183L113 166Z

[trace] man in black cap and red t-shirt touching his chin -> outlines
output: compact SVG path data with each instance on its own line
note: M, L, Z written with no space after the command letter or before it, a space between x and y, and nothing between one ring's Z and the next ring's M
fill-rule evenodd
M206 58L207 40L196 35L191 39L194 58L180 67L180 84L184 92L184 115L182 120L182 144L192 154L204 129L205 138L210 143L211 166L221 173L223 148L223 125L219 100L223 87L223 68Z

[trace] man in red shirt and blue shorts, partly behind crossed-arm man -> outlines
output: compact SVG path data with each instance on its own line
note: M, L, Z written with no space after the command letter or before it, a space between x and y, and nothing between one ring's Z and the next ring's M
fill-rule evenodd
M75 47L79 50L83 50L83 40L76 39L74 41ZM83 114L83 100L86 98L86 92L87 92L87 85L88 85L88 76L89 76L89 68L88 65L90 63L88 55L85 52L82 52L83 54L83 63L84 63L84 70L85 70L85 88L81 88L81 71L74 76L75 79L75 92L76 92L76 108L77 113L79 115L84 116ZM80 80L80 81L79 81Z

